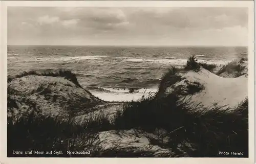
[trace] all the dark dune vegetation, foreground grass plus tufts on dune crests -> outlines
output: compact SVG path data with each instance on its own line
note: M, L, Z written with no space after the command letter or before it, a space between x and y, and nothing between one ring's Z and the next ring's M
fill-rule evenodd
M196 62L195 57L189 58L186 70L198 71L201 67L207 67L212 71L209 64ZM204 66L203 66L204 65ZM178 69L172 67L162 77L159 90L166 85L170 86L181 80L177 74ZM26 75L42 76L67 76L75 80L74 74L67 72L39 74L35 72L24 73L16 76ZM8 79L11 80L11 79ZM78 84L78 82L77 82ZM78 84L79 85L79 84ZM193 92L192 87L190 90ZM15 90L9 88L9 94L18 95ZM36 106L27 102L32 112L19 120L8 118L8 156L22 156L12 154L18 151L62 151L61 155L40 155L41 157L154 157L154 153L147 150L134 151L130 148L122 148L118 145L114 148L104 148L98 139L98 132L108 130L139 129L142 132L153 133L158 140L149 137L152 145L161 148L172 149L174 154L159 152L160 157L223 157L218 153L244 152L248 157L248 99L246 98L236 108L230 109L226 106L202 107L177 97L174 92L166 97L159 98L158 95L142 97L139 101L124 103L122 108L116 111L113 120L106 115L90 116L86 120L79 121L74 118L60 119L44 115L37 111ZM8 97L8 110L17 108L14 99ZM164 133L157 133L156 129L163 129ZM18 137L17 137L18 136ZM161 139L162 138L162 139ZM167 141L163 138L167 138ZM118 144L118 143L117 143ZM68 155L67 150L82 151L90 150L88 155ZM26 156L23 154L23 156ZM36 156L38 155L29 155ZM228 156L231 157L231 156ZM238 156L236 156L238 157Z

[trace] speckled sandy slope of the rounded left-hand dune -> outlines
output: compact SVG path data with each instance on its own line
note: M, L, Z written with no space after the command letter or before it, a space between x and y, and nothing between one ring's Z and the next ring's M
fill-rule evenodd
M13 109L17 116L34 110L33 104L42 113L59 116L70 111L90 112L89 109L103 103L89 91L62 77L29 75L13 79L8 87L15 90L8 96L17 103L18 107Z

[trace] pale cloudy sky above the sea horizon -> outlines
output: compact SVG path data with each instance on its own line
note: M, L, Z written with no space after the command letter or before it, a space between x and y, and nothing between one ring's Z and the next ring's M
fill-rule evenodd
M8 7L9 45L247 46L248 9Z

